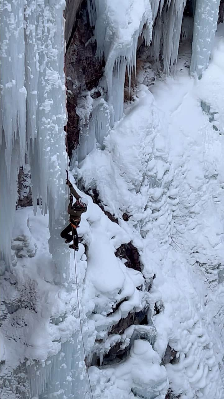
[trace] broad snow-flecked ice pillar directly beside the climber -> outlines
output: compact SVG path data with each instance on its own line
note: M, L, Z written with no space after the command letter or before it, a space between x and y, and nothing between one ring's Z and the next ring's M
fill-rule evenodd
M60 237L64 219L67 218L65 198L65 85L64 85L64 36L63 8L65 2L49 0L24 13L28 15L26 34L31 35L35 16L35 39L26 38L30 51L27 63L32 68L33 86L37 84L37 106L35 109L35 87L28 91L27 120L30 121L28 142L30 140L31 178L33 184L33 203L41 198L43 213L49 213L49 251L55 264L55 282L69 279L69 253ZM35 41L36 46L31 47ZM29 47L28 47L29 46ZM32 60L38 60L36 64ZM26 74L30 82L29 72ZM30 86L30 84L29 84ZM28 110L34 115L29 115Z

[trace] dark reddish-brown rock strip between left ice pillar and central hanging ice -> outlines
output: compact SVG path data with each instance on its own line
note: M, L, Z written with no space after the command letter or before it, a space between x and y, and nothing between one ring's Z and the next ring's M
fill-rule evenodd
M103 75L104 62L99 60L96 53L96 41L93 36L93 29L90 27L87 1L75 2L80 4L76 18L73 15L73 28L71 29L72 16L69 12L72 1L67 3L65 19L68 24L66 37L67 51L65 55L65 75L67 85L67 142L68 152L71 157L73 149L79 142L79 116L76 113L77 101L85 90L92 90L97 87L99 79ZM70 8L69 8L70 7ZM75 11L73 10L73 14ZM66 129L66 128L65 128Z

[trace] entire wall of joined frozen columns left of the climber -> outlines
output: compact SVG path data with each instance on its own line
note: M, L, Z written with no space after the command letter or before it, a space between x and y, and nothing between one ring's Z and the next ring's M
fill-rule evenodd
M58 227L65 216L64 1L4 0L0 5L0 257L10 270L19 167L31 165L34 209L49 209L49 248L66 280ZM63 276L64 274L64 276Z

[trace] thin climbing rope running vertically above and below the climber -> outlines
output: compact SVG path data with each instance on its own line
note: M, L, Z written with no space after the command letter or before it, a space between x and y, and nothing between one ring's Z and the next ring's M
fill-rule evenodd
M64 68L65 68L66 42L65 42L65 18L64 17L63 17L63 28L64 28ZM64 71L65 71L65 69L64 69ZM66 77L66 73L65 73L65 77ZM65 83L65 113L66 113L66 119L67 119L67 122L68 122L67 106L66 106L66 103L67 103L66 92L67 92L67 85ZM69 151L69 147L68 147L68 140L67 140L67 122L66 122L66 126L65 126L65 140L66 140L66 147L67 147L67 179L68 179L69 178L69 152L68 152ZM69 185L68 185L68 206L69 206ZM72 238L73 238L73 250L74 250L75 283L76 283L77 304L78 304L78 312L79 312L79 324L80 324L80 332L81 332L81 337L82 337L82 342L83 342L83 353L84 353L84 358L86 359L86 350L85 350L84 337L83 337L83 326L82 326L80 304L79 304L79 291L78 291L77 267L76 267L76 259L75 259L75 244L74 244L73 226L72 226ZM91 396L92 396L92 399L94 399L87 366L86 366L86 373L87 373L87 377L88 377L88 383L89 383L89 387L90 387Z

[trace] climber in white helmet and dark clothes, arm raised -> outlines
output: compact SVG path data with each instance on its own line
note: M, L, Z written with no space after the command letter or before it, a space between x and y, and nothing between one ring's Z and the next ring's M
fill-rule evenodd
M61 232L61 237L65 238L66 243L71 243L73 240L73 245L69 245L69 248L75 249L75 251L78 251L79 249L79 238L78 238L78 233L77 233L77 227L79 227L79 223L81 221L81 215L82 213L86 212L87 210L87 205L88 205L88 199L83 198L79 196L79 194L76 192L75 188L72 186L71 182L67 180L67 184L69 185L71 194L70 194L70 202L69 202L69 207L68 207L68 213L70 215L70 224L65 227L65 229ZM76 202L73 203L73 196L76 199ZM69 234L72 232L72 235Z

